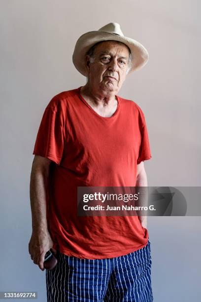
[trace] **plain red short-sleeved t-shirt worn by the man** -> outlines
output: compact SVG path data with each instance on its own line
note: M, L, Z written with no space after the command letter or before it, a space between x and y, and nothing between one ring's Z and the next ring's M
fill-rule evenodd
M53 247L86 259L119 257L143 248L148 231L137 216L77 216L77 187L134 187L137 164L150 159L144 114L119 96L111 117L96 113L80 88L47 105L33 154L51 159L47 222Z

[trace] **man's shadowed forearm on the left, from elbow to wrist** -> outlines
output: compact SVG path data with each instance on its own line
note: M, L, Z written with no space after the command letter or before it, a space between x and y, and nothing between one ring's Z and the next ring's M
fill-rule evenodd
M30 178L30 203L32 210L33 231L47 231L46 188L48 175L43 171L33 170Z

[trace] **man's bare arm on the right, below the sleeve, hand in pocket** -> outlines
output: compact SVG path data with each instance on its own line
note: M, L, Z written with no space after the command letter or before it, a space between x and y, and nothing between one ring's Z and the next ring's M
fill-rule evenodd
M137 175L136 175L136 187L147 187L147 175L144 168L144 162L141 161L137 165ZM143 205L147 205L147 196L146 200L143 200ZM141 206L141 205L140 205ZM142 227L147 228L147 216L138 216Z

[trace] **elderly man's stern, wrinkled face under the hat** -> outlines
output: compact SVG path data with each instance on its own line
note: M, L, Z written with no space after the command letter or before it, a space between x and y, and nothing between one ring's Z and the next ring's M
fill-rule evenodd
M126 78L128 61L129 49L125 44L115 41L98 44L94 50L94 63L87 65L92 87L117 93Z

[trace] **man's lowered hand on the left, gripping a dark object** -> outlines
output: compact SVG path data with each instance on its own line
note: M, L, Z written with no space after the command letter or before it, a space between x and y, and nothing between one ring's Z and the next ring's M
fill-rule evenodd
M29 253L33 263L37 264L42 271L44 270L43 262L47 251L51 248L54 253L57 252L52 247L53 241L48 231L39 230L32 232L29 242Z

